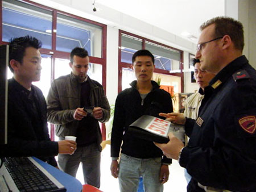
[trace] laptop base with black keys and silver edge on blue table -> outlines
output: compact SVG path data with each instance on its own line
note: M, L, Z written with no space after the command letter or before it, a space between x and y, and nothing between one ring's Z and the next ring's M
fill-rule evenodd
M0 169L0 191L67 191L32 157L7 157Z

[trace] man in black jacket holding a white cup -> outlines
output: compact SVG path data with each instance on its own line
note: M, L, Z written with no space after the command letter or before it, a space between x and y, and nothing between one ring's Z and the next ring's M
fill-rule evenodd
M35 156L57 166L54 156L72 154L75 141L51 141L48 135L46 101L32 85L40 80L41 42L24 36L10 41L9 68L14 77L8 84L8 141L3 156Z

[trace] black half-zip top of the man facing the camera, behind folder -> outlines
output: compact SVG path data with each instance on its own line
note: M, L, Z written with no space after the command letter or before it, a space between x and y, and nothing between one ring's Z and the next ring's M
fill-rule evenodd
M162 157L162 151L152 141L138 139L127 133L127 127L142 115L152 115L158 118L159 112L172 112L171 95L159 89L155 81L151 81L153 89L144 101L136 88L137 81L131 82L131 88L118 94L115 101L114 122L111 137L111 156L119 157L122 153L137 158ZM171 159L164 156L162 162L171 163Z

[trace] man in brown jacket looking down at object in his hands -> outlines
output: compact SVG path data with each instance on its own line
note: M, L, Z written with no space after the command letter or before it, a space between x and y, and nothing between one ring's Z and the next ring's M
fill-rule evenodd
M84 181L100 187L101 130L98 122L109 120L110 106L104 89L88 75L89 56L83 48L71 52L71 74L52 82L47 97L47 119L56 124L56 135L76 136L73 155L59 155L60 168L76 177L82 162Z

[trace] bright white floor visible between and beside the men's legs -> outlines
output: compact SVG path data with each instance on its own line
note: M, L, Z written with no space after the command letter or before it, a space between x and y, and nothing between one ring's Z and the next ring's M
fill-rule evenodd
M118 179L112 177L110 173L110 145L106 145L101 153L101 188L104 192L118 192ZM169 166L170 177L169 181L164 184L164 192L185 192L187 182L184 177L184 169L177 164L176 160L172 161ZM81 165L77 172L77 179L84 184L84 177L82 176Z

